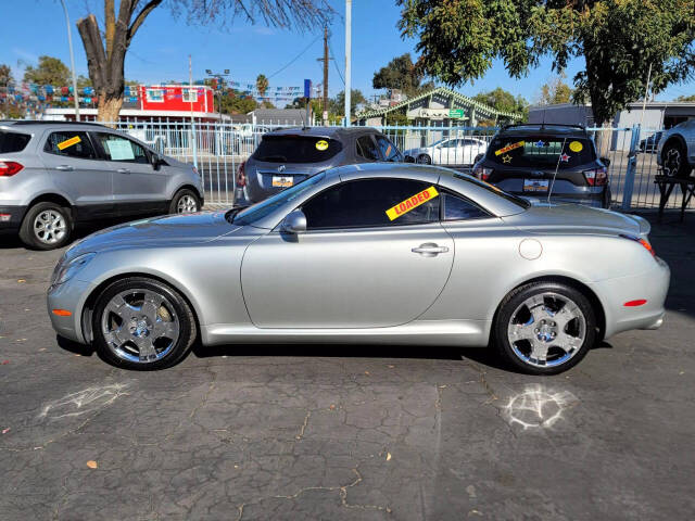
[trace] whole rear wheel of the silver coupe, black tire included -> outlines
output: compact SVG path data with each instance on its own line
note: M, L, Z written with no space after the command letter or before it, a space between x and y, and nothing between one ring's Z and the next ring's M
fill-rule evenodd
M596 341L591 302L574 288L531 282L500 304L493 344L508 365L529 374L557 374L576 366Z

